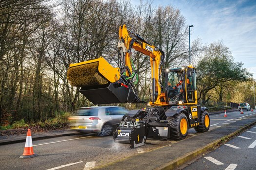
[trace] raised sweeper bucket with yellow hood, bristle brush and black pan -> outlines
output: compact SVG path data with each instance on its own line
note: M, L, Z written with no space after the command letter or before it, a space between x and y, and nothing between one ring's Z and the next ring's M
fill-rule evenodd
M112 67L103 57L70 64L68 69L70 84L81 87L80 93L93 104L141 102L120 77L120 69Z

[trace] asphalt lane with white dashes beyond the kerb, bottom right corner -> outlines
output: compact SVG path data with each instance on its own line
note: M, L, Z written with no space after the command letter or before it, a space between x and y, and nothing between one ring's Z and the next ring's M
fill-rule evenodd
M183 170L256 170L256 126Z

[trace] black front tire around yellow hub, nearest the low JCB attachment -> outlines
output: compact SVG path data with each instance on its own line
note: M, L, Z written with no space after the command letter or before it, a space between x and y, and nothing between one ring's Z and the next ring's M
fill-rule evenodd
M180 129L181 120L185 119L187 122L187 130L186 133L182 134ZM170 120L170 133L172 140L182 140L188 135L188 119L184 113L175 114Z

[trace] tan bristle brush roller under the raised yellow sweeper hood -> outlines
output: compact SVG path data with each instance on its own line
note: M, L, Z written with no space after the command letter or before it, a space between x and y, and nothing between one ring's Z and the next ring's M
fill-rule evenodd
M98 72L99 62L71 67L67 75L70 84L76 87L104 85L109 81Z

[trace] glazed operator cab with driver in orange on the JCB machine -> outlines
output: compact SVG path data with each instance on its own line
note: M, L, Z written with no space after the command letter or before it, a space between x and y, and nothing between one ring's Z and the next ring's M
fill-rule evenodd
M197 104L195 68L188 66L169 69L165 72L165 81L170 105Z

